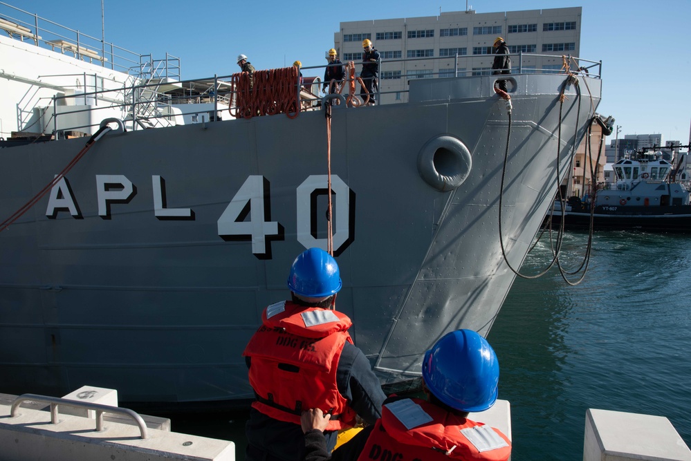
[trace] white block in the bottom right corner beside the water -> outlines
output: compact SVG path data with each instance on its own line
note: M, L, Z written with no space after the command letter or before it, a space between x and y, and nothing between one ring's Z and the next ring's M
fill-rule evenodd
M583 461L691 461L670 420L589 408L585 413Z

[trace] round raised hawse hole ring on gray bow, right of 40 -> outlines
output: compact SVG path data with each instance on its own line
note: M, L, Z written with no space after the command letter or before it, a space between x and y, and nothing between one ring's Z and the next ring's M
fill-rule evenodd
M466 144L450 135L432 138L418 153L418 171L429 184L442 192L459 187L468 178L472 158Z

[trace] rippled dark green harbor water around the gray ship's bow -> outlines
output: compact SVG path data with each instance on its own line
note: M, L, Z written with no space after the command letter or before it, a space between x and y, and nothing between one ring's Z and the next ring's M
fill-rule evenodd
M586 243L587 234L566 234L567 270ZM550 254L538 244L522 272L540 272ZM556 268L517 279L488 337L499 398L511 403L512 459L582 459L587 408L665 416L691 446L690 283L691 236L641 232L596 234L580 285ZM172 426L233 440L243 460L245 417L172 417Z

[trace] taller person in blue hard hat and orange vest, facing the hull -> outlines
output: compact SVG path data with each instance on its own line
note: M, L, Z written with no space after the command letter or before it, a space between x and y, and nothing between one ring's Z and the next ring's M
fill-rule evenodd
M369 360L353 345L351 320L333 310L342 281L333 256L310 248L295 258L288 277L291 301L269 305L243 355L255 402L246 425L246 460L302 460L300 415L320 408L331 415L325 446L356 414L374 424L386 396Z

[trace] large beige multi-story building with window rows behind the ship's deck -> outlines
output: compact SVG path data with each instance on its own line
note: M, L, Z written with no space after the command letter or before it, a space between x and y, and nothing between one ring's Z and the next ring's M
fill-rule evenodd
M382 57L380 91L385 103L405 101L413 78L487 75L496 37L504 37L514 72L560 72L562 56L580 53L581 8L376 19L340 23L334 44L343 62L362 61L362 40ZM415 58L413 61L403 59ZM575 65L570 62L573 69ZM359 70L359 69L358 69ZM575 69L573 69L575 70Z

